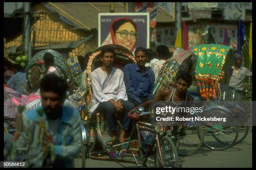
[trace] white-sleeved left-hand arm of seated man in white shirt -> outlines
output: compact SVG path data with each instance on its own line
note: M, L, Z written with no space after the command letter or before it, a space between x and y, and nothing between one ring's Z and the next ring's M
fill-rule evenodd
M100 80L98 80L96 72L92 72L91 80L93 95L95 96L95 99L98 102L107 102L108 100L110 100L111 98L106 96L105 93L102 91L102 88L100 86Z

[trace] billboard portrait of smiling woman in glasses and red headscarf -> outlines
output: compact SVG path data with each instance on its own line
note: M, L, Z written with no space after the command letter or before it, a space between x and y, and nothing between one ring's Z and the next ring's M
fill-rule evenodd
M98 47L122 45L132 53L149 48L149 13L99 13Z

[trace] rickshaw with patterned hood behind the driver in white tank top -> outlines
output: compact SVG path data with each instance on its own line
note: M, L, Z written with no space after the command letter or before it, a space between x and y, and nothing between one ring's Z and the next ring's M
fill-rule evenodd
M195 77L195 67L197 64L197 56L189 50L177 48L173 56L166 60L161 68L160 76L157 83L155 83L154 97L169 86L176 87L176 77L180 70L188 72L192 77ZM163 104L167 102L163 102ZM174 144L177 148L177 153L180 156L189 156L197 152L202 146L204 133L203 128L197 121L184 122L184 125L179 126L178 133L174 134L172 126L162 126L159 128L169 132ZM186 132L185 136L180 136L181 129Z

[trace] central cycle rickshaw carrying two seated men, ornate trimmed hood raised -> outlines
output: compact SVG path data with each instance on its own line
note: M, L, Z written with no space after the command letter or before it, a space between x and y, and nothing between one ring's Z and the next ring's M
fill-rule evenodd
M157 130L150 123L143 122L141 118L133 121L127 142L113 146L106 145L106 142L110 140L110 135L105 117L98 112L89 114L92 106L90 76L93 70L102 65L100 53L105 47L111 47L115 52L113 67L123 69L125 64L136 62L133 54L120 45L104 45L97 48L90 55L84 82L86 89L84 102L86 105L80 109L83 141L81 147L82 168L85 167L85 160L88 158L118 163L134 163L139 167L179 168L179 157L172 140L166 136L166 133ZM140 113L140 117L148 118L151 115L151 112L144 112L143 108L139 108L137 111ZM122 119L122 117L116 117L119 130L121 127L120 120ZM135 161L131 159L135 159Z

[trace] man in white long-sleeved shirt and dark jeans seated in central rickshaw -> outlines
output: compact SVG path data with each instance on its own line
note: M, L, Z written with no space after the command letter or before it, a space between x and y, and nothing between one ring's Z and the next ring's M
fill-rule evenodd
M119 137L120 143L125 142L125 131L128 130L130 118L128 112L134 105L127 101L125 84L122 70L112 67L115 53L111 48L105 48L100 54L102 66L91 74L93 90L93 106L90 112L100 112L106 116L110 130L110 140L107 145L113 145L117 141L117 129L115 114L125 113L122 124L122 131Z

